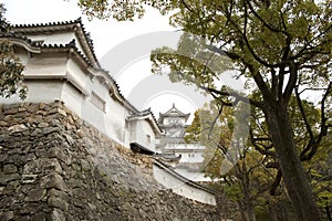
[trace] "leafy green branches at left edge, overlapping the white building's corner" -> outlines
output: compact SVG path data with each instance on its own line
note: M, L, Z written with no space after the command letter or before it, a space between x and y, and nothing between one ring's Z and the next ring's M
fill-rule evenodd
M1 33L9 31L9 25L3 17L4 6L0 4L0 28ZM0 96L10 97L19 93L19 97L24 99L27 87L23 85L24 66L15 55L13 45L8 41L0 41Z

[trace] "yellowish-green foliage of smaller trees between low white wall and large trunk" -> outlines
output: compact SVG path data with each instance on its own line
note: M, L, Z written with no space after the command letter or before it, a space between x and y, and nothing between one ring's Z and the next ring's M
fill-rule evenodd
M264 168L268 158L250 145L239 151L240 157L235 162L229 155L230 148L237 150L235 144L231 144L234 122L232 108L224 107L219 114L219 108L214 101L206 104L204 109L196 110L193 124L187 128L187 138L189 141L199 140L206 146L203 168L205 173L212 179L221 179L219 191L222 191L232 203L242 208L231 214L232 218L239 217L240 212L246 215L266 214L264 212L269 210L267 202L272 204L280 198L280 196L269 194L277 170ZM232 167L227 173L225 173L225 165Z

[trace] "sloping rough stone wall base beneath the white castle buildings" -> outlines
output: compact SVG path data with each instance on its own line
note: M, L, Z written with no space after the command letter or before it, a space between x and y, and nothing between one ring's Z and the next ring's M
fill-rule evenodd
M0 220L219 220L61 103L0 107Z

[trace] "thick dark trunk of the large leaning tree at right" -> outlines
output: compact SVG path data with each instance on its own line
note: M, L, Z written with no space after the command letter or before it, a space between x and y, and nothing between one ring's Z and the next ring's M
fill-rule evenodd
M295 151L293 130L287 108L280 103L264 109L269 133L273 141L284 185L299 221L319 221L320 214L309 180Z

